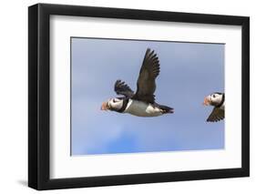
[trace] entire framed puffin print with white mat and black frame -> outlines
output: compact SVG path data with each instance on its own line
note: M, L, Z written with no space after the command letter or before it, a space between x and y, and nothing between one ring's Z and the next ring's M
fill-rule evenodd
M250 174L250 19L28 8L28 186Z

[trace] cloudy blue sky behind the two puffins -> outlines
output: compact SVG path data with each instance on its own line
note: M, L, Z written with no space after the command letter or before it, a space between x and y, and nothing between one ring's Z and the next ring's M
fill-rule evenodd
M208 123L203 98L224 91L224 45L71 38L71 155L224 148L224 121ZM147 48L159 56L156 101L174 114L135 117L100 106L114 84L136 91Z

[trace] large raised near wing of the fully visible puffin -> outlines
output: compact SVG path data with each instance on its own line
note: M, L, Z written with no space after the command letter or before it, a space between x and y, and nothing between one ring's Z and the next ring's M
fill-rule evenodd
M150 51L150 49L148 48L139 71L137 92L132 98L148 103L154 103L154 92L156 90L155 79L159 76L159 72L159 57L157 56L157 54L154 54L154 50Z

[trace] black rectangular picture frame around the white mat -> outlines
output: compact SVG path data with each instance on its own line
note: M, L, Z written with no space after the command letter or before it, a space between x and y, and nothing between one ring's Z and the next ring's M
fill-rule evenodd
M74 15L132 20L241 26L241 168L206 169L118 176L50 179L49 16ZM179 180L223 179L250 175L250 18L177 12L37 4L28 7L28 186L68 189Z

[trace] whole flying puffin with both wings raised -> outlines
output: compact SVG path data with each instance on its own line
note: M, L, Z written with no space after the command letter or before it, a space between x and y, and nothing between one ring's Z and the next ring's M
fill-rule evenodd
M101 106L101 110L112 110L118 113L129 113L138 117L157 117L173 113L172 107L159 105L155 102L156 77L159 76L159 57L149 48L144 56L137 81L137 91L131 90L128 85L117 80L114 90L118 95L108 99Z

